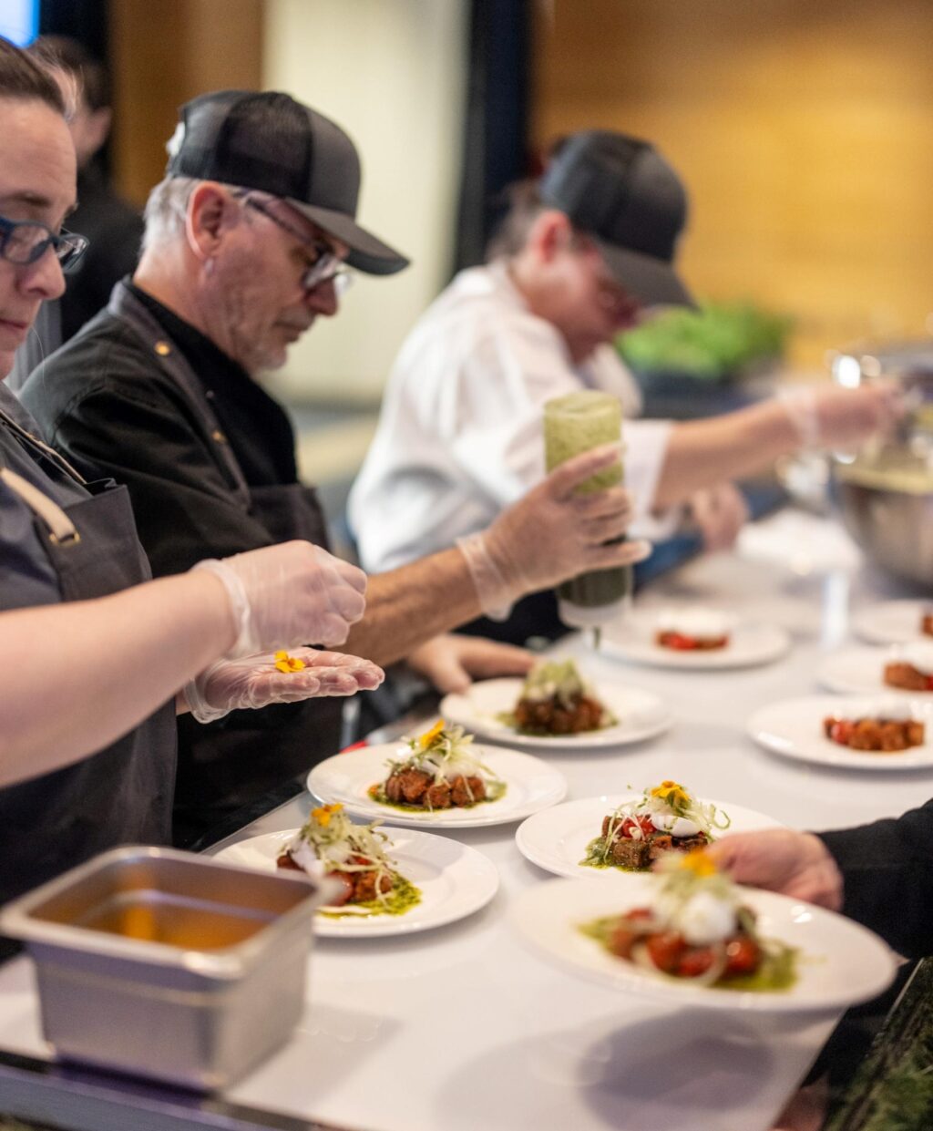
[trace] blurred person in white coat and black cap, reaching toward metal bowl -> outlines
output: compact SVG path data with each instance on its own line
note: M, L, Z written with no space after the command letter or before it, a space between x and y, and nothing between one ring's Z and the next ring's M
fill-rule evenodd
M692 304L673 266L685 219L683 185L657 149L607 130L571 136L539 181L515 188L490 262L453 279L396 361L351 494L364 568L450 545L539 482L551 397L595 388L627 417L638 411L612 343L645 308ZM859 439L890 418L891 400L888 389L805 389L712 421L628 422L637 518L690 501L708 544L727 543L741 511L726 481L801 443Z

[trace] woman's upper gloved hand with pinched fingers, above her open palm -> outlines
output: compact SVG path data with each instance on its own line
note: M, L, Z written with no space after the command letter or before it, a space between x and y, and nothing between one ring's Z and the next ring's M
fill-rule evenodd
M366 575L310 542L283 542L206 569L224 582L236 624L228 658L269 648L343 644L366 607Z

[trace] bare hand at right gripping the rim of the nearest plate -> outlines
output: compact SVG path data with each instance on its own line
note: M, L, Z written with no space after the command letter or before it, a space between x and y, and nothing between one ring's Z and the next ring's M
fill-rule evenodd
M735 832L708 849L736 883L767 888L838 912L843 877L827 846L812 832L764 829Z

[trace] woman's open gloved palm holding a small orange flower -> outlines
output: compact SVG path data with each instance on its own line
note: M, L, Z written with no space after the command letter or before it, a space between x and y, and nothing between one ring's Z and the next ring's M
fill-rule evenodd
M276 653L217 661L185 685L184 701L199 723L213 723L231 710L372 691L385 679L381 667L358 656L314 648L290 655L304 664L301 671L280 672Z

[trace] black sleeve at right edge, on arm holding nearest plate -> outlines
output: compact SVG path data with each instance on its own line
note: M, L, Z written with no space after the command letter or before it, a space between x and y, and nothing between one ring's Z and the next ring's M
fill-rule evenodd
M897 820L819 836L843 872L843 913L907 958L933 953L933 800Z

